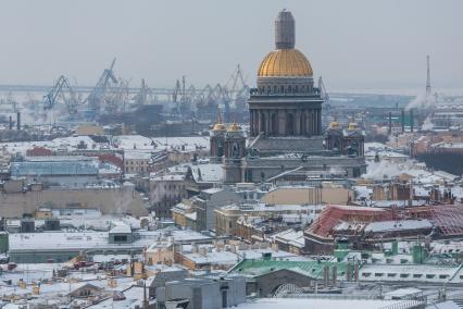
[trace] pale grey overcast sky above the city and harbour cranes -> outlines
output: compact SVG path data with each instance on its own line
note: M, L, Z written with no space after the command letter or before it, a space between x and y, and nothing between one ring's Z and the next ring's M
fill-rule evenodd
M225 83L239 63L250 85L274 48L279 10L296 47L329 88L463 88L461 0L0 0L0 84L92 85L112 59L139 85Z

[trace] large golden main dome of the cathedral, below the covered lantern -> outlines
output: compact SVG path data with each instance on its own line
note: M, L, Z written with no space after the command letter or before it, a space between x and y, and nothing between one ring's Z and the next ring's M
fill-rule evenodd
M270 52L259 67L259 77L312 76L305 55L297 49L277 49Z

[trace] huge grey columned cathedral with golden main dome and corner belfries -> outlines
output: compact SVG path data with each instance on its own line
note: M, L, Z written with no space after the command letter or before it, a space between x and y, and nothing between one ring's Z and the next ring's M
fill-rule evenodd
M281 11L275 20L275 50L258 70L250 90L249 134L218 120L211 131L211 161L222 162L225 183L306 180L365 172L364 132L337 122L322 129L321 89L305 55L295 48L295 18Z

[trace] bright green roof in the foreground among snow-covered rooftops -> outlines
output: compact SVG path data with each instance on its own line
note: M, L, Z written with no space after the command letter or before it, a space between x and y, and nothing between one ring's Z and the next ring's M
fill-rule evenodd
M313 279L323 277L323 268L329 267L329 275L331 275L333 267L336 265L338 276L346 276L347 263L346 262L327 262L327 261L284 261L284 260L242 260L228 271L230 274L241 274L246 276L259 276L262 274L279 271L290 270L301 273ZM353 265L353 264L352 264ZM351 268L353 274L353 267Z

